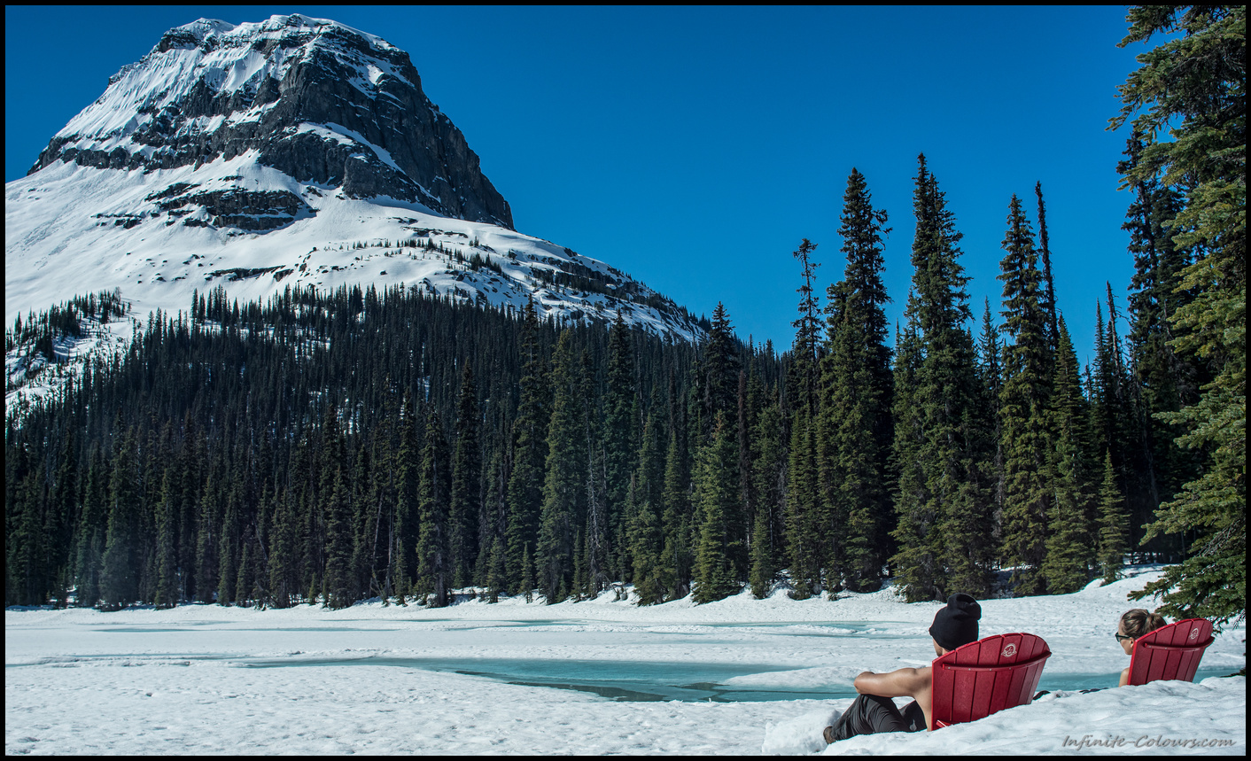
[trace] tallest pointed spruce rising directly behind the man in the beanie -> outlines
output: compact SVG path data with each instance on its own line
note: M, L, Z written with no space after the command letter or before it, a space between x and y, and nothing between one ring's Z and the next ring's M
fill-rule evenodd
M958 262L962 234L924 155L917 163L908 315L918 343L896 369L896 393L907 407L896 404L896 427L904 432L894 438L899 526L892 562L908 600L942 600L957 591L983 596L995 557L993 491L977 357L963 328L971 313L968 277ZM901 364L914 374L901 378ZM908 388L901 391L899 383Z

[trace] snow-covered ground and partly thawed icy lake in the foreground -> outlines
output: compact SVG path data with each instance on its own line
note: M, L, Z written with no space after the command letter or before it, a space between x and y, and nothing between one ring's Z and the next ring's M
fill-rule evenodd
M5 752L1243 755L1246 678L1215 675L1245 665L1245 627L1217 636L1193 685L1076 692L1115 686L1127 665L1112 633L1126 592L1155 575L1140 571L982 603L983 636L1047 640L1052 695L829 748L821 730L856 673L929 662L938 603L884 590L651 608L608 593L443 610L9 610Z

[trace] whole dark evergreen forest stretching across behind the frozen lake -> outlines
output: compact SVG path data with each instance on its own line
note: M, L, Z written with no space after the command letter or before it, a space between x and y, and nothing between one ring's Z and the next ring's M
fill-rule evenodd
M719 305L696 344L418 289L198 293L6 414L5 602L339 608L744 586L908 601L1077 591L1126 562L1170 616L1246 600L1245 6L1138 6L1113 126L1135 275L1078 363L1041 185L1005 199L996 304L918 156L906 320L852 170L844 268L802 240L784 352ZM894 215L898 217L897 214ZM899 224L896 219L896 224ZM110 294L6 352L118 319ZM139 324L139 323L136 323ZM1125 334L1118 325L1127 325ZM893 334L893 340L892 340Z

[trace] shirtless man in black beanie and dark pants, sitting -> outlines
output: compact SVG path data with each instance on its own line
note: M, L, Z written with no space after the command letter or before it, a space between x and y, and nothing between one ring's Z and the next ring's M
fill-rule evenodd
M977 622L982 606L971 596L957 592L934 615L929 636L934 653L945 656L962 645L977 642ZM932 670L899 668L891 673L866 671L856 677L859 697L843 711L833 726L826 727L826 742L876 732L917 732L929 727ZM892 697L911 697L899 711Z

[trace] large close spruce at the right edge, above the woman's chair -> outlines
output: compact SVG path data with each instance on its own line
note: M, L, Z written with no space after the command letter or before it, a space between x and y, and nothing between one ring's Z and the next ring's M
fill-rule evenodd
M1163 593L1167 615L1223 622L1246 612L1246 6L1135 6L1127 21L1122 48L1183 33L1138 58L1112 126L1133 116L1147 143L1131 178L1185 192L1183 210L1162 220L1177 247L1198 252L1181 283L1193 300L1170 318L1183 333L1172 347L1213 374L1196 403L1162 416L1206 462L1145 537L1195 529L1188 557L1141 595Z

